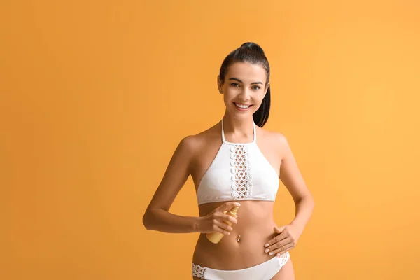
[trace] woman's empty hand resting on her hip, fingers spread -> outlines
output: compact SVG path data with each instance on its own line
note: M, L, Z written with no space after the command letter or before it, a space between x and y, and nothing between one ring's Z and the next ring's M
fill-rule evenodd
M265 253L268 253L269 255L274 255L276 253L278 256L295 248L297 240L302 234L295 225L291 224L284 225L281 228L274 227L274 232L279 235L265 244Z

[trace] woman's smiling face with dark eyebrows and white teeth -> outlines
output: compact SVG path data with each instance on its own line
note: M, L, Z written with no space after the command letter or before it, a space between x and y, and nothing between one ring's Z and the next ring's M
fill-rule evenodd
M239 118L248 118L260 108L269 84L260 64L235 62L228 67L225 83L218 76L218 89L223 93L226 110Z

